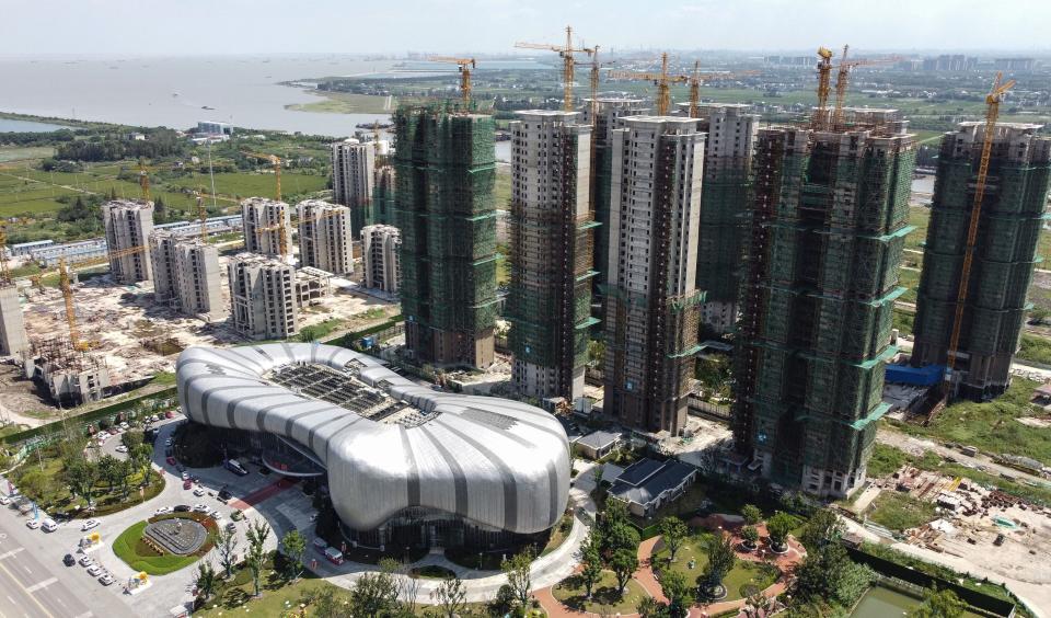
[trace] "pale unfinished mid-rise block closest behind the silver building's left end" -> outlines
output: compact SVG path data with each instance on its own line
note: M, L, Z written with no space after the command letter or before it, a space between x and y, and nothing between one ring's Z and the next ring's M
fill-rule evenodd
M234 330L250 339L288 339L299 332L292 266L280 260L240 253L227 267Z

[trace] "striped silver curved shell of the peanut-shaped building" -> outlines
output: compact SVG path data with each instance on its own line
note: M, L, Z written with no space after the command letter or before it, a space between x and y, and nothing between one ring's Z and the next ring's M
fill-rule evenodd
M368 355L310 343L189 347L176 374L189 419L277 434L313 453L353 528L423 506L531 534L566 506L568 440L535 407L436 392Z

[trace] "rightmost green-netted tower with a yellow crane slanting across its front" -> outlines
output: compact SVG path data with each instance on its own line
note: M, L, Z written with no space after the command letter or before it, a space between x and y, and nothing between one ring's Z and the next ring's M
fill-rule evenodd
M1051 178L1041 125L995 126L952 381L960 397L995 397L1010 382ZM985 124L961 123L938 153L913 327L912 364L945 365L967 249Z

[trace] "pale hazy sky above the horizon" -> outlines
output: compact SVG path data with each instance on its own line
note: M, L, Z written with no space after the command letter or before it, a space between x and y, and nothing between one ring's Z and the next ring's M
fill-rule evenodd
M1051 49L1051 0L0 0L0 55Z

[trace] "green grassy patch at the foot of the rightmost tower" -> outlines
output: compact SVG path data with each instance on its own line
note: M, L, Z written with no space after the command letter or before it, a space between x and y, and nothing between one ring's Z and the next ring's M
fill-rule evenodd
M1032 427L1017 421L1043 414L1040 408L1029 402L1038 384L1016 377L1007 392L997 399L986 403L954 403L926 427L892 424L911 435L972 445L985 453L1024 455L1051 466L1051 428Z

